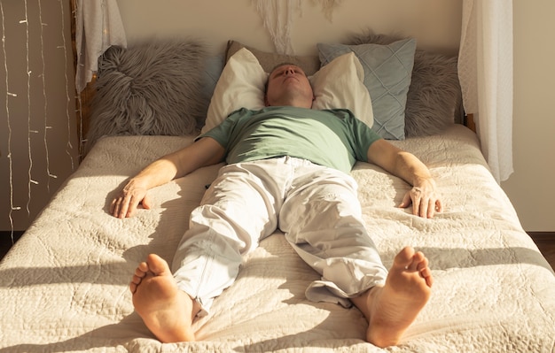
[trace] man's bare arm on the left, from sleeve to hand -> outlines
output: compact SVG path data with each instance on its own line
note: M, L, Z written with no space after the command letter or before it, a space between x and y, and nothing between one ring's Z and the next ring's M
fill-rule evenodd
M225 150L210 137L205 137L182 150L160 157L131 178L120 194L114 197L110 213L120 219L132 217L139 203L145 209L151 204L146 192L150 188L192 173L202 166L215 165L223 160Z

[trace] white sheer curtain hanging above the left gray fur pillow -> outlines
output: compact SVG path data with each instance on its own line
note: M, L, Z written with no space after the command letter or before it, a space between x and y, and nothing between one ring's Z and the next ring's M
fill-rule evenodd
M75 88L81 92L98 70L98 58L112 45L127 47L116 0L75 1Z

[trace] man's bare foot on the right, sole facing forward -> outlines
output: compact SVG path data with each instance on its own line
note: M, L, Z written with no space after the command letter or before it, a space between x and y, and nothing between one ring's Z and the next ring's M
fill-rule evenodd
M433 281L424 254L410 247L401 250L385 286L351 299L368 319L367 341L381 348L397 344L426 305Z

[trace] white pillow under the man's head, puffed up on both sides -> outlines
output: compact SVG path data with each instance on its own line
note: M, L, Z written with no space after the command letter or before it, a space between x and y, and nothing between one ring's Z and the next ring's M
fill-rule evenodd
M240 108L262 109L268 75L246 48L233 54L216 83L201 133L218 126L232 111ZM371 127L374 118L371 99L363 80L363 66L355 53L335 58L309 77L316 97L312 109L345 108Z

